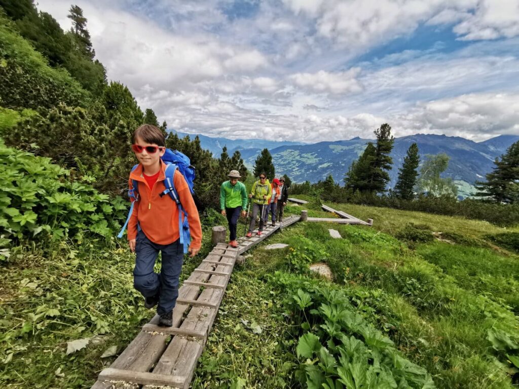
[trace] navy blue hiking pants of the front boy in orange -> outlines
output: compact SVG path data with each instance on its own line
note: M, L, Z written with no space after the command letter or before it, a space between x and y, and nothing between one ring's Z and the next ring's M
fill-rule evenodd
M153 271L159 251L162 253L160 274ZM170 244L156 244L141 230L135 242L133 287L144 297L160 295L157 313L167 313L175 307L179 297L179 277L184 261L184 247L180 239Z

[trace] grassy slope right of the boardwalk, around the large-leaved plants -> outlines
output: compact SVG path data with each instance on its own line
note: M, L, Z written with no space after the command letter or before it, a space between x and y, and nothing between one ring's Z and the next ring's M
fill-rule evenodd
M519 295L519 262L517 256L483 240L487 233L510 229L418 212L345 204L333 206L362 218L374 218L374 228L296 225L270 238L268 244L282 242L298 247L299 237L304 235L324 245L335 282L344 285L352 299L374 308L373 320L379 328L391 336L406 356L433 374L439 387L511 387L507 368L501 365L507 364L507 357L491 348L487 330L496 329L499 324L509 334L519 335L519 323L512 312L519 308L516 297ZM330 216L316 210L309 213ZM457 238L461 235L469 245L434 241L413 244L413 249L409 249L392 236L409 222L428 224L434 231L457 233ZM339 230L346 239L330 239L328 228ZM247 331L242 319L254 319L260 326L271 328L272 318L279 315L280 297L270 296L268 283L261 288L258 280L275 270L289 270L284 262L288 251L266 251L263 249L266 244L254 249L253 257L243 270L233 275L231 285L239 280L242 287L231 286L223 306L234 304L236 307L235 301L240 301L240 309L225 321L218 318L215 323L213 334L225 335L213 335L202 355L195 382L204 383L204 387L220 387L222 383L223 387L225 383L236 385L240 382L237 377L247 380L247 387L282 387L276 385L277 379L294 384L283 370L282 360L277 360L266 374L262 363L251 365L236 358L236 352L215 353L213 348L215 343L224 351L233 347L250 349L252 339L252 351L245 355L253 355L259 361L271 356L272 350L261 346L265 337L271 342L271 332L249 334L247 340L236 336L239 331ZM253 294L262 296L267 306L272 301L270 315L265 313L265 307L252 303L248 296ZM279 320L278 325L278 332L284 335L279 336L279 344L293 342L290 331L284 330L284 323ZM209 362L214 358L220 364L217 370ZM285 362L294 360L287 357ZM225 372L223 376L222 372Z

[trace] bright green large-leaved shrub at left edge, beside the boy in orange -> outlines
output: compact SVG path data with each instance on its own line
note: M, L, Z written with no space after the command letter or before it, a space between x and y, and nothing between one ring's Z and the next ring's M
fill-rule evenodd
M126 203L90 185L69 180L70 172L49 158L8 148L0 140L0 236L80 243L93 233L111 237L125 216Z

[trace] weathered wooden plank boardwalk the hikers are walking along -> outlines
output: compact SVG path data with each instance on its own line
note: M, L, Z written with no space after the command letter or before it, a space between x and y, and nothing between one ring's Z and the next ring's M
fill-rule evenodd
M179 288L173 326L159 327L155 315L114 363L101 371L92 389L189 387L238 256L300 218L285 217L275 227L266 227L261 237L240 238L238 248L218 243Z

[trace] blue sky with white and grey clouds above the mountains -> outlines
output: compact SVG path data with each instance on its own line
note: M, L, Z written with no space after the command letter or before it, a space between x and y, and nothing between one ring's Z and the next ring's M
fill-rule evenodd
M72 0L38 0L63 29ZM169 128L303 142L519 134L519 0L76 0Z

